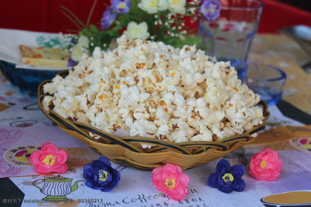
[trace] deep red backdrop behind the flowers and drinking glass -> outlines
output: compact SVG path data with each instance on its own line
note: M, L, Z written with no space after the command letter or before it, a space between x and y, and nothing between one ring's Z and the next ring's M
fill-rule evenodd
M275 0L260 0L264 3L258 33L277 33L278 29L292 25L311 26L311 12ZM297 0L299 1L299 0ZM91 23L99 25L105 4L98 0ZM63 5L86 23L93 1L90 0L9 0L1 1L0 28L23 29L42 32L74 33L77 27L61 12ZM196 25L193 24L193 28Z

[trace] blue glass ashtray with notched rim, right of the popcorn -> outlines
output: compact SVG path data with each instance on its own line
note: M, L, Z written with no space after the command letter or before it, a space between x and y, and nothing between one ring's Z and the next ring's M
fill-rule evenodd
M260 95L260 99L269 105L277 104L282 99L286 74L279 68L271 65L257 63L240 63L235 65L238 77L242 83L247 84L248 88Z

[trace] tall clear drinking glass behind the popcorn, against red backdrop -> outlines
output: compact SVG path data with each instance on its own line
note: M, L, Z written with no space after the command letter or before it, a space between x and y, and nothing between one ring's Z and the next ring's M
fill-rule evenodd
M263 4L257 0L220 0L220 16L208 22L199 19L199 35L206 55L231 65L247 61Z

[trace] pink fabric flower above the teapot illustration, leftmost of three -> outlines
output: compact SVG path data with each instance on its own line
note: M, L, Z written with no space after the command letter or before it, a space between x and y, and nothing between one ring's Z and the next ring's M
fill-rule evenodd
M41 150L33 151L29 157L29 162L35 166L34 169L39 174L66 172L68 169L66 160L67 152L57 150L57 146L49 142L45 142Z

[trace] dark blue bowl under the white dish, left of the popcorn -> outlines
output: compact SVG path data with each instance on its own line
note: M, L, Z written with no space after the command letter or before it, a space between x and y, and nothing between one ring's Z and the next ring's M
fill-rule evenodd
M25 68L15 68L14 63L0 60L0 70L2 75L13 85L17 86L21 93L31 97L37 97L39 84L48 79L53 79L54 75L62 70L32 70Z

